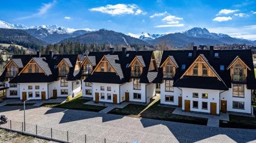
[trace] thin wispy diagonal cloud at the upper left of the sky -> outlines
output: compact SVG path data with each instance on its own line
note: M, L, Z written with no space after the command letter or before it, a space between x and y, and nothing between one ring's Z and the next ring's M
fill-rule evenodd
M42 15L46 14L54 6L55 3L56 3L56 1L54 0L52 3L42 4L41 8L38 9L37 13L29 15L29 16L19 17L17 19L23 20L23 19L42 16Z

